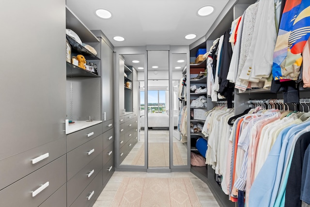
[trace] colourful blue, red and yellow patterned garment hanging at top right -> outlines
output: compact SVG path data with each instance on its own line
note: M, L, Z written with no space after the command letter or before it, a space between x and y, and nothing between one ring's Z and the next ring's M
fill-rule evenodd
M275 80L297 80L301 52L310 36L310 0L287 0L273 55Z

